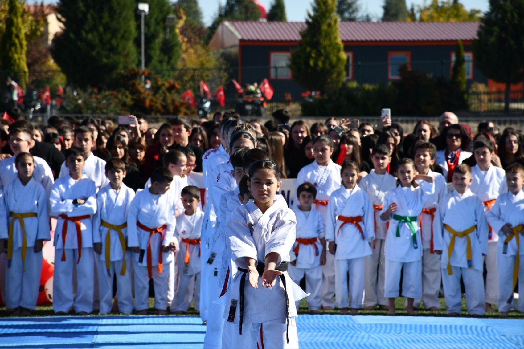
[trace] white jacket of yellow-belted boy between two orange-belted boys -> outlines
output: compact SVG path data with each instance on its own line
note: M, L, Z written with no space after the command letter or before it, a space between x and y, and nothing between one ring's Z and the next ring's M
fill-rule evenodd
M107 184L107 186L100 189L97 193L96 213L93 216L93 242L102 243L101 260L105 260L107 234L110 234L111 261L127 259L131 256L131 252L129 251L126 251L126 256L124 256L124 250L118 232L114 229L110 231L109 228L102 225L102 221L117 226L127 223L127 212L134 198L135 192L124 183L122 183L118 194L111 188L111 184ZM122 228L122 234L127 243L127 227Z

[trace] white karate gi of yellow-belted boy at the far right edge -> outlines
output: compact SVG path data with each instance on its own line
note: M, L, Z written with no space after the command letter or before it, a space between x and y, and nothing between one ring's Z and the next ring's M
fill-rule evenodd
M515 236L511 238L505 248L504 244L507 236L500 230L507 223L511 227L524 224L524 191L519 191L517 195L510 192L500 195L495 205L489 210L487 220L493 231L500 235L497 243L498 311L507 312L512 306L513 272L518 254L520 260L518 267L519 300L517 302L517 310L524 312L524 235L518 233L518 248Z

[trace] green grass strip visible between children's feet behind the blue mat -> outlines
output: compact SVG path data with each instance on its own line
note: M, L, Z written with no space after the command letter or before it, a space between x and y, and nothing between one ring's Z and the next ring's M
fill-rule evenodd
M395 308L397 310L397 315L407 315L406 311L402 310L404 308L404 301L405 301L404 297L398 297L396 299ZM154 315L156 313L155 310L153 309L153 304L154 304L154 299L149 298L149 308L150 308L149 314L150 315ZM440 308L445 309L444 298L440 298ZM302 302L300 303L299 314L308 314L308 313L309 313L308 307L305 303L305 300L303 299ZM340 312L338 310L323 310L321 311L321 313L322 314L339 314ZM445 317L446 316L445 310L425 311L421 309L421 310L418 310L417 313L419 314L419 316L420 315L431 316L431 317ZM358 312L358 314L359 315L386 315L386 311L385 310L361 310ZM71 313L70 315L74 315L74 313ZM110 316L110 315L111 316L119 316L119 315L126 316L127 314L111 313L111 314L99 315L99 314L93 313L93 314L83 315L83 316ZM187 313L184 313L183 315L199 315L199 312L194 310L193 306L191 306L190 310ZM498 318L498 315L499 315L498 312L490 312L490 313L486 313L485 317L486 318ZM9 316L9 313L6 311L5 306L0 307L0 317L8 317L8 316ZM51 304L37 306L36 310L32 312L31 316L34 316L34 317L54 316L53 308ZM166 315L163 315L163 316L166 316ZM170 314L168 316L176 316L176 315ZM471 317L471 315L469 315L466 311L466 299L465 298L462 298L462 312L460 316L465 317L465 318ZM508 314L508 319L524 319L524 313L520 313L517 311L511 311Z

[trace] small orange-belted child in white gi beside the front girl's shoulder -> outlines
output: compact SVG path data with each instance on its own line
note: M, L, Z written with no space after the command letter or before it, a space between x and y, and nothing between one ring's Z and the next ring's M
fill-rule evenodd
M318 314L322 299L322 265L326 263L324 216L312 208L316 188L305 182L297 188L300 203L293 209L297 217L297 239L290 255L289 276L299 284L305 275L305 289L310 293L306 299L312 314ZM297 309L300 301L297 301Z

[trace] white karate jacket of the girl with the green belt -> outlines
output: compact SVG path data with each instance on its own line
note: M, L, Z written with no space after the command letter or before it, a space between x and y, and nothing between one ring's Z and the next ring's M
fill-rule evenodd
M384 207L382 211L380 211L380 214L386 212L388 206L396 202L397 211L394 214L399 216L417 216L417 219L412 222L415 228L417 248L414 248L413 246L412 231L408 223L400 223L393 219L392 215L389 217L389 228L386 235L386 246L384 249L384 255L387 259L409 263L422 258L423 248L422 242L420 241L418 219L425 201L434 193L434 191L434 183L424 181L417 188L413 188L413 186L401 187L399 185L397 188L387 192L386 197L384 198ZM380 217L380 219L382 218ZM400 237L396 236L397 226L399 227Z

